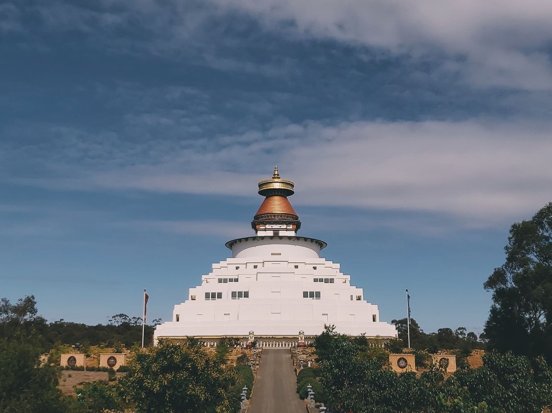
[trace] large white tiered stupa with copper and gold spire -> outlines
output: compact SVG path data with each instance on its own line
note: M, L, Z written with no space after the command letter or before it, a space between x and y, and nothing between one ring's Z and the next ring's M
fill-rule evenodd
M247 343L254 335L264 347L289 346L299 332L308 343L325 324L351 336L396 337L395 326L380 321L378 306L351 285L351 276L320 257L326 243L297 235L301 221L288 200L293 182L275 167L258 192L265 199L251 222L255 235L226 243L232 258L213 264L190 288L172 321L157 326L155 342L192 336L215 345L226 336Z

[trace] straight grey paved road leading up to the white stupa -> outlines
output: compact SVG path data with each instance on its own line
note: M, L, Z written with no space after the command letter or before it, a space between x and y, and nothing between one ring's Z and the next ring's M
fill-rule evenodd
M305 413L296 387L289 348L264 348L248 413Z

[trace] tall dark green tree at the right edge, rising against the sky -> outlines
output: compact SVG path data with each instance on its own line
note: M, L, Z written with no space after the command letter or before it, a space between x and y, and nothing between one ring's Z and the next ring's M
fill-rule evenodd
M552 203L511 226L506 262L487 279L489 346L552 361Z

